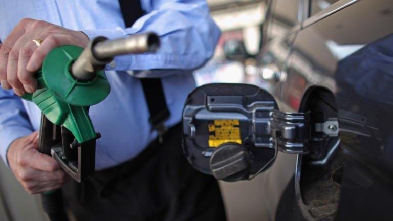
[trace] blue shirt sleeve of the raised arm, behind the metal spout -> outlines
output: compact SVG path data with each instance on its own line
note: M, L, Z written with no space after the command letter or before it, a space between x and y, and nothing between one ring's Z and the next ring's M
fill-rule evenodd
M91 39L100 35L113 39L148 31L160 36L161 47L156 53L116 57L115 65L108 65L107 70L194 70L213 55L220 30L210 17L205 0L142 3L148 13L130 28L82 30Z

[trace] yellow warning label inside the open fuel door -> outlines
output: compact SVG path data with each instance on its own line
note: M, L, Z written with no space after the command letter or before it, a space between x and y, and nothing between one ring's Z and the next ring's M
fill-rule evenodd
M208 126L209 147L217 147L227 142L242 144L239 120L214 120L209 121Z

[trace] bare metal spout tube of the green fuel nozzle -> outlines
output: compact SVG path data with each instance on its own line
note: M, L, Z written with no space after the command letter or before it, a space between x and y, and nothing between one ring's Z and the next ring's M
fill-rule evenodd
M96 76L97 71L103 70L115 56L155 52L159 47L159 37L151 32L115 40L97 37L72 65L72 75L77 80L88 81Z

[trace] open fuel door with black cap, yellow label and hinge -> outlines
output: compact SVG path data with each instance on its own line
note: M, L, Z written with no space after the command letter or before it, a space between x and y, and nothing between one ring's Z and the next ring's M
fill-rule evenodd
M309 151L308 113L283 113L267 91L214 83L191 92L182 116L183 149L191 165L217 180L254 178L277 151Z

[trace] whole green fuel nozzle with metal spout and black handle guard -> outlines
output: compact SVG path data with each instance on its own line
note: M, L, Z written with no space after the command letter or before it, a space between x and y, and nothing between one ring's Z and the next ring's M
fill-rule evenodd
M145 33L115 40L97 37L85 49L65 45L49 52L35 74L39 89L22 97L42 111L39 151L51 154L78 182L93 174L101 135L88 109L110 92L106 64L115 56L154 52L159 46L156 34Z

